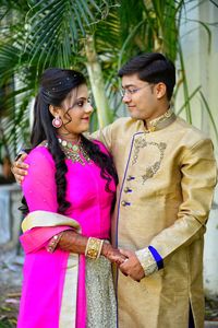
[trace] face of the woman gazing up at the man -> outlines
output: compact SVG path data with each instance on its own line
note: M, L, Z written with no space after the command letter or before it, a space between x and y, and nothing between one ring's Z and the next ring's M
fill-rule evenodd
M89 119L93 107L88 98L86 84L72 90L62 102L58 115L62 119L62 126L57 129L60 136L74 139L77 134L89 128Z

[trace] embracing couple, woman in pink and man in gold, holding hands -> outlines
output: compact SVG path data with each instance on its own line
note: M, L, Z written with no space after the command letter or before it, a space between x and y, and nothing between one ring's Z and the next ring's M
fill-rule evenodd
M28 211L19 327L204 327L211 141L170 109L175 70L165 56L137 56L119 77L131 117L90 141L83 75L43 75L28 173L25 155L13 169Z

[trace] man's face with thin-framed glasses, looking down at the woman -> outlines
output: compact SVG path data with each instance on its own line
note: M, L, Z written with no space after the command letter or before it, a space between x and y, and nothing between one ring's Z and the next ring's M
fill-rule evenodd
M148 83L138 79L137 74L122 78L123 103L128 106L132 118L153 120L166 112L160 99L166 86L164 83Z

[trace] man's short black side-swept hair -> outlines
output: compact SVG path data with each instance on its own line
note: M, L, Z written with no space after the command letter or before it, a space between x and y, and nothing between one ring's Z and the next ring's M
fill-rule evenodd
M175 84L175 68L171 60L159 52L147 52L132 58L118 72L118 75L138 74L142 81L148 83L162 82L167 86L167 97L170 101Z

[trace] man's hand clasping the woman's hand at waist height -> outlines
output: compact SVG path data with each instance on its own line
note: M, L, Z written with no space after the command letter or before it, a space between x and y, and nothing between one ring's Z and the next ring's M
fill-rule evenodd
M134 251L120 249L120 253L128 259L120 265L123 274L130 276L135 281L141 281L145 277L145 272Z

